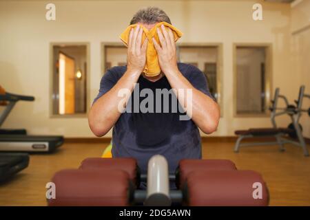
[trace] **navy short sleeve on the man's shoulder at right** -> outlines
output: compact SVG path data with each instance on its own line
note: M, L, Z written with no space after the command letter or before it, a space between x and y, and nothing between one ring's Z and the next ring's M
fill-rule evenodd
M215 101L215 98L211 95L209 91L207 78L205 77L205 74L203 74L203 72L201 72L200 69L198 69L193 65L189 65L187 73L188 73L187 76L189 76L188 78L189 83L192 83L193 87L203 92L203 94L206 94Z

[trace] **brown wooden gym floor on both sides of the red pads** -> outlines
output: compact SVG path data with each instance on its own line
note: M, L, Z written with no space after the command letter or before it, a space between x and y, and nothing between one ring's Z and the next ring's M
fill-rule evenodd
M100 157L107 143L64 144L52 155L31 155L30 166L9 182L0 185L0 206L45 206L45 184L63 168L77 168L86 157ZM310 206L310 157L287 145L253 146L233 152L233 142L205 142L203 157L231 159L238 169L262 174L270 192L271 206ZM309 149L310 150L310 149Z

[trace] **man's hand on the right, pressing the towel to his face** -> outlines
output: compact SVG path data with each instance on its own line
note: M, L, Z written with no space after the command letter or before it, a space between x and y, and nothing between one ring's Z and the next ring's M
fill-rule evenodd
M161 32L161 30L163 32ZM161 70L167 74L178 70L178 65L176 64L176 43L174 42L174 34L170 28L167 32L165 26L161 25L161 30L157 28L158 39L161 42L161 46L158 45L154 37L152 41L158 54Z

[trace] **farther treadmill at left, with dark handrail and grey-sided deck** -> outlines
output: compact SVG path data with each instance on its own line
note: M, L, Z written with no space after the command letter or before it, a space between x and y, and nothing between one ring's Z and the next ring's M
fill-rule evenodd
M19 100L34 101L34 97L10 94L5 91L0 93L0 102L6 106L0 113L0 126ZM63 136L27 135L25 129L0 129L0 151L52 153L63 144L63 141Z

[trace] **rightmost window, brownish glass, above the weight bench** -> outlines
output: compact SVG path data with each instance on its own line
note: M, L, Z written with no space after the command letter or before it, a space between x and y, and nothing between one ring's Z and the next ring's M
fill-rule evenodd
M235 48L236 115L266 115L270 94L269 45Z

